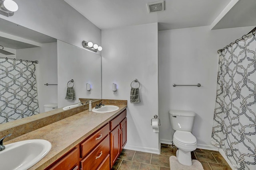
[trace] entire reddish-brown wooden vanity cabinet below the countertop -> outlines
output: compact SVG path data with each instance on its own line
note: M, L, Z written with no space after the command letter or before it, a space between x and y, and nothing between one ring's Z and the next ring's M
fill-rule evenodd
M124 110L46 170L110 170L126 144L126 131Z

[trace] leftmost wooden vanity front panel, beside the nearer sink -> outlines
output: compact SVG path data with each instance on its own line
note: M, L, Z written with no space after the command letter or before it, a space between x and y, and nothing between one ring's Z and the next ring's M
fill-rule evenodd
M78 162L78 149L75 148L69 154L67 154L64 158L62 158L59 162L57 162L52 168L49 170L71 170L77 165Z

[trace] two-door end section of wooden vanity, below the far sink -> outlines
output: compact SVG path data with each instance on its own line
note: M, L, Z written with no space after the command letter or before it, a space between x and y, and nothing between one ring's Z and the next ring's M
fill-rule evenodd
M110 130L110 168L112 168L127 141L126 110L110 121Z

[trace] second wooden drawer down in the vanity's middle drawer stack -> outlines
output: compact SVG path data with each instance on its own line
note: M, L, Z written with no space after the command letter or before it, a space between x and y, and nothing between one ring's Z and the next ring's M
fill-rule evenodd
M104 161L110 152L109 135L92 152L81 160L82 170L95 170Z

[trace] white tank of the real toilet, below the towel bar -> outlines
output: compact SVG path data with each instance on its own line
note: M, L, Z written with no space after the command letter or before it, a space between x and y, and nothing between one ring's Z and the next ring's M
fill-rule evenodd
M192 131L196 116L194 111L170 110L169 113L172 129L176 131Z

